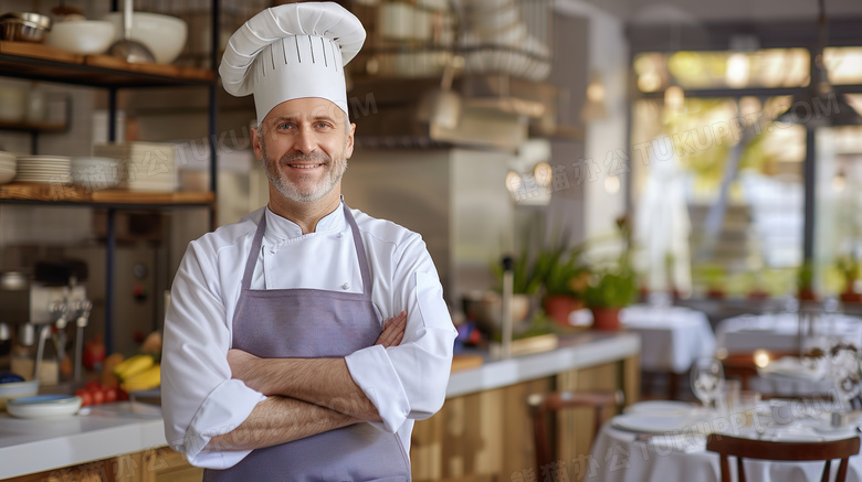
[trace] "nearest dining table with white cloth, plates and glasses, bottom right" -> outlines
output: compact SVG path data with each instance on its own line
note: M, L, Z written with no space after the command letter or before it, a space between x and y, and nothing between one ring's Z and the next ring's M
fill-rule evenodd
M831 414L840 407L828 400L760 401L756 410L718 413L679 400L633 404L600 429L589 454L560 460L571 481L590 482L719 482L717 453L706 450L706 435L774 441L827 441L859 437L855 414L833 426ZM747 416L746 416L747 415ZM819 481L823 462L745 460L749 482ZM736 476L735 463L730 464ZM832 465L832 473L835 472ZM848 481L862 481L862 457L849 461Z

